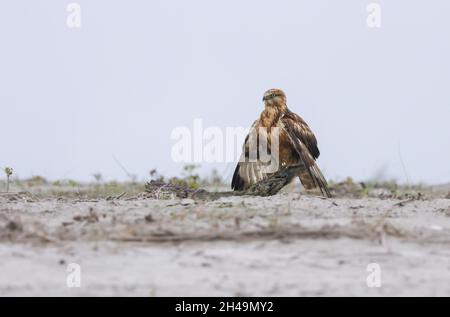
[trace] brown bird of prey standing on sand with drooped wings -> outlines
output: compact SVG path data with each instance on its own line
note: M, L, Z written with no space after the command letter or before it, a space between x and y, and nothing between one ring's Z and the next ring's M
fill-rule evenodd
M263 102L265 108L245 138L231 188L245 190L282 167L297 165L302 167L298 177L305 189L318 188L322 195L331 197L327 181L315 162L320 152L308 124L288 109L286 95L280 89L266 91ZM271 157L271 164L276 163L275 170L268 168L267 159L263 160L264 151Z

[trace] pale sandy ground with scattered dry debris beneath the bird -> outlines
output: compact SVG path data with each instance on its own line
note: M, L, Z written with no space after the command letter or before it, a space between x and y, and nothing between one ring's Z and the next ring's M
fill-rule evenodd
M0 195L0 296L449 296L449 259L444 197Z

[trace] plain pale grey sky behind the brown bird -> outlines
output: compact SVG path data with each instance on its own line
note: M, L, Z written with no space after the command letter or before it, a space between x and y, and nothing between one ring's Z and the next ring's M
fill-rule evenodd
M70 2L80 29L66 26ZM405 181L401 153L411 182L449 182L449 12L447 0L3 0L0 166L124 179L114 154L141 179L175 175L174 127L248 126L276 87L316 133L328 178Z

